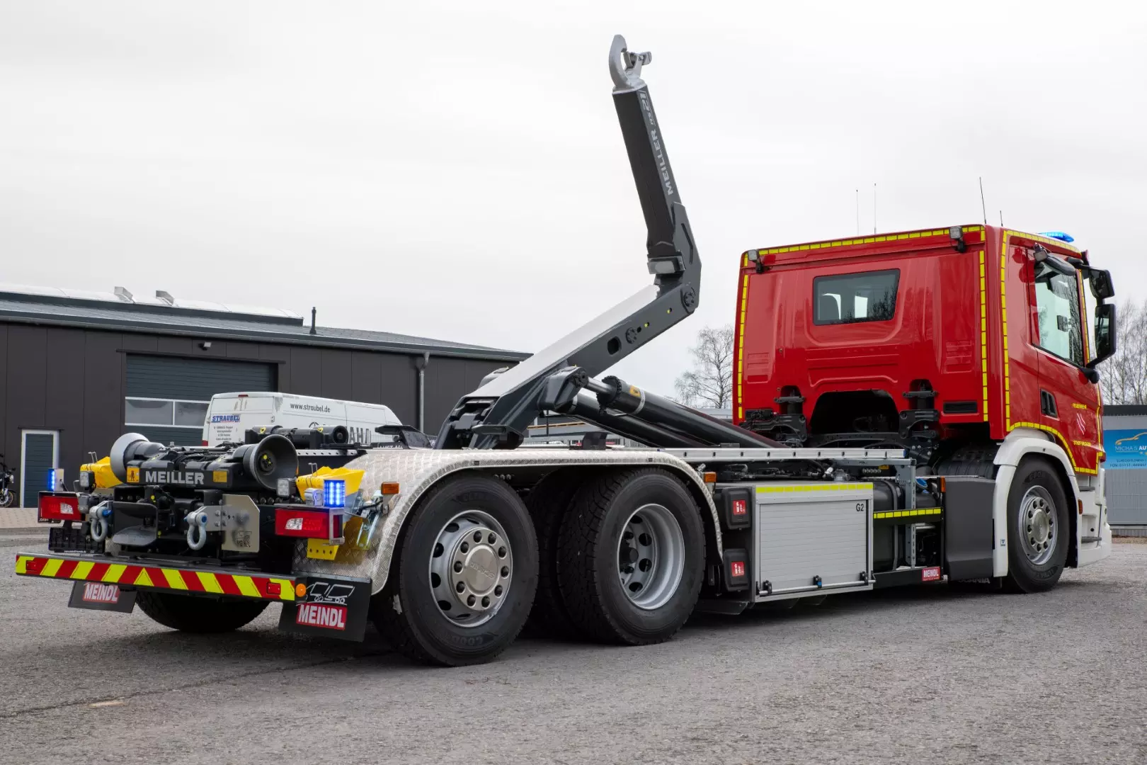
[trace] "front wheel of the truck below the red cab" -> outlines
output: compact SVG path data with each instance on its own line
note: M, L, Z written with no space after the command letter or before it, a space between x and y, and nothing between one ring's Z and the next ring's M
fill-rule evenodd
M1007 499L1008 575L1013 592L1055 586L1068 557L1068 500L1059 476L1043 459L1016 468Z

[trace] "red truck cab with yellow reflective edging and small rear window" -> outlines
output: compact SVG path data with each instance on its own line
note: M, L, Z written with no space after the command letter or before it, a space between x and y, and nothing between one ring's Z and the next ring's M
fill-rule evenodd
M896 445L931 466L1032 428L1095 475L1111 280L1066 239L972 225L746 252L734 421L791 445Z

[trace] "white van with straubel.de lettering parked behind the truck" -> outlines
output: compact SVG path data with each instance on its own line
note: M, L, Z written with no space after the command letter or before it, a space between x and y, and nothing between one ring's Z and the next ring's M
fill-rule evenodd
M400 426L389 406L292 393L216 393L203 422L203 445L243 440L248 428L318 428L346 426L357 444L388 444L393 436L380 436L379 426Z

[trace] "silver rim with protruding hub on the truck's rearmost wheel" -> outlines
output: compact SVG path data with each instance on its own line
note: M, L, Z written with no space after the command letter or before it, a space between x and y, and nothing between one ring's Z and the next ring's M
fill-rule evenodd
M482 510L447 521L430 548L430 595L451 624L476 627L494 617L509 594L514 551L506 530Z

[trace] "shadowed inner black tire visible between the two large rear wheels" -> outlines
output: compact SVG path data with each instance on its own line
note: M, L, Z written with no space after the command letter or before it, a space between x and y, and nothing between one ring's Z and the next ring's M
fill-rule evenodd
M570 618L557 584L557 544L562 521L586 477L580 470L556 473L547 476L526 498L525 505L538 534L538 593L526 625L531 633L561 640L584 637Z

